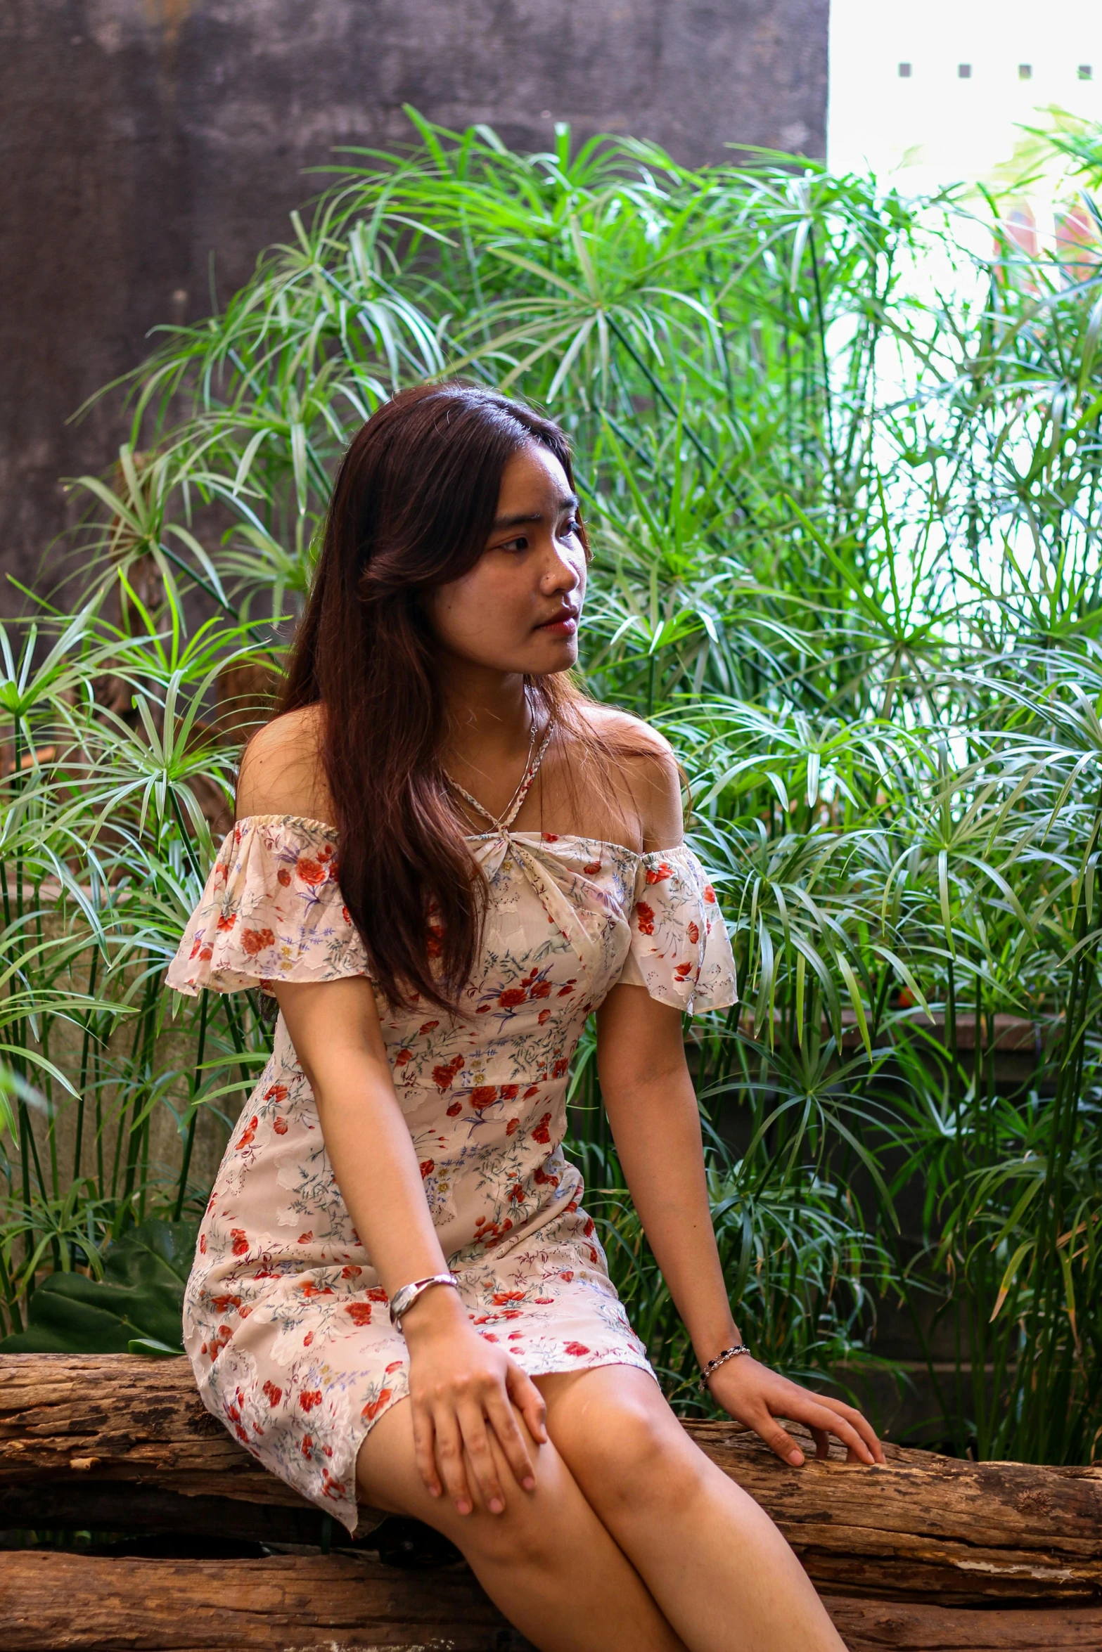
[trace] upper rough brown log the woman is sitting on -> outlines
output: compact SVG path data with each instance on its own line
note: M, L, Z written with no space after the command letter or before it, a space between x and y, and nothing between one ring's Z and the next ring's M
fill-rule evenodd
M686 1426L777 1520L823 1593L1102 1601L1102 1467L970 1464L889 1447L882 1469L831 1460L793 1470L730 1424ZM89 1523L81 1488L93 1487L101 1507L112 1487L121 1497L144 1487L172 1493L177 1508L230 1498L311 1513L203 1411L187 1361L0 1356L5 1518L43 1525L33 1505L50 1490L51 1525ZM63 1495L73 1498L71 1521L58 1518ZM13 1500L25 1518L12 1518Z

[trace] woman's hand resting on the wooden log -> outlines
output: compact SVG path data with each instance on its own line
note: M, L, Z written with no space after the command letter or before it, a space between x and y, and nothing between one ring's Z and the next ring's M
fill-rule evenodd
M803 1452L777 1417L803 1422L815 1439L816 1457L829 1454L828 1436L833 1434L846 1447L846 1462L884 1462L876 1432L854 1406L826 1394L813 1394L747 1355L720 1365L709 1381L709 1393L735 1422L760 1434L765 1444L793 1469L803 1462Z

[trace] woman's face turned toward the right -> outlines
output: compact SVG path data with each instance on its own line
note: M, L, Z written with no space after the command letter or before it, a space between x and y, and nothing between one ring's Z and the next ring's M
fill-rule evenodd
M469 573L431 591L433 629L448 653L476 666L568 671L583 596L577 494L558 459L529 443L506 466L486 550Z

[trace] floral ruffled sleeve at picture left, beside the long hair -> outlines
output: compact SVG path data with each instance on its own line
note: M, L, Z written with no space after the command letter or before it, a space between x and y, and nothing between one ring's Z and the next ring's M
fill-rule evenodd
M169 965L169 986L269 991L344 975L368 968L337 882L335 831L291 814L238 821Z

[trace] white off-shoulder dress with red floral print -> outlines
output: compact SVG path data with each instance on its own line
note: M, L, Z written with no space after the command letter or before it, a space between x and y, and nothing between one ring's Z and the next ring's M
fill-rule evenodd
M582 1176L562 1153L567 1067L587 1016L618 981L686 1011L732 1004L730 943L686 846L636 854L514 833L537 767L539 757L509 819L468 839L489 899L463 1014L416 1003L395 1011L377 993L378 1016L425 1198L473 1325L530 1376L600 1365L649 1371L582 1208ZM238 821L169 985L231 993L370 975L337 861L337 833L321 821ZM207 1408L354 1531L357 1452L408 1393L408 1356L283 1018L207 1206L183 1338Z

